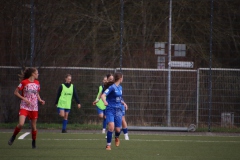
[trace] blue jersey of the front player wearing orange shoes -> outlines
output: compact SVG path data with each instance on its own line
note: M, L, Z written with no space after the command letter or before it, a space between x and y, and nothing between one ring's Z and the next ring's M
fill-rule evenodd
M111 85L108 89L104 91L107 95L106 101L108 102L107 107L120 108L122 106L122 86L115 84Z

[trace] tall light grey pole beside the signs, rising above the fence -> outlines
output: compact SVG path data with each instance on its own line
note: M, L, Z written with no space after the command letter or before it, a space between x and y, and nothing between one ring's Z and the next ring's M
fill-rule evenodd
M169 1L168 31L168 93L167 93L167 126L171 126L171 43L172 43L172 0Z

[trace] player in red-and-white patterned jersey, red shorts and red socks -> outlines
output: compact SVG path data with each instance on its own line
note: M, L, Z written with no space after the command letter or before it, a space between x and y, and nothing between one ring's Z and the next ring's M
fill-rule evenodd
M45 104L40 98L40 84L38 79L38 70L36 68L27 68L20 76L20 84L15 89L14 94L21 99L19 110L19 123L16 126L12 137L8 141L12 145L16 135L21 131L26 117L31 120L32 125L32 148L36 148L37 137L37 119L38 119L38 102Z

